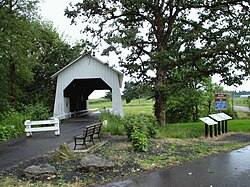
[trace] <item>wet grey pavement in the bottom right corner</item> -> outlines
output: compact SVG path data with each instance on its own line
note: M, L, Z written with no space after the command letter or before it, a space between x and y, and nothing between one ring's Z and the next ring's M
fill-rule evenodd
M248 187L250 146L103 187Z

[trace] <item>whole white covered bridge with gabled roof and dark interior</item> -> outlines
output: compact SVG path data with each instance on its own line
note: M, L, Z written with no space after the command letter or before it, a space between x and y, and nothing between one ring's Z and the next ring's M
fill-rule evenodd
M57 77L54 117L67 118L72 112L88 110L94 90L112 92L113 113L123 116L120 88L123 74L91 55L83 55L52 75Z

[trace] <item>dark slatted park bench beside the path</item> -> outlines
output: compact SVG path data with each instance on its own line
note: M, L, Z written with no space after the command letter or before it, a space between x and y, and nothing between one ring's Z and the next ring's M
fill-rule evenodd
M92 142L93 144L95 144L94 139L99 139L99 141L101 141L100 139L101 126L102 122L86 126L83 129L83 133L81 135L74 137L74 142L75 142L74 150L76 149L77 145L82 145L87 148L86 144L87 138L89 138L89 142ZM78 140L81 140L81 142L78 143L77 142Z

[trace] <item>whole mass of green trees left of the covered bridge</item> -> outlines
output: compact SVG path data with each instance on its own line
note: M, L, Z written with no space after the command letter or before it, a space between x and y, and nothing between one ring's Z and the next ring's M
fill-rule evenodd
M0 2L0 112L8 106L54 104L51 75L79 56L83 45L65 42L37 15L38 0Z

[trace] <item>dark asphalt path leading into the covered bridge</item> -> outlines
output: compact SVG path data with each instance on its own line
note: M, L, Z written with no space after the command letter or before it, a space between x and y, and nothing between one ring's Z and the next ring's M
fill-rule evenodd
M98 120L98 114L89 114L82 118L74 118L60 125L60 136L54 131L37 132L26 138L22 135L8 142L0 142L0 172L21 161L39 156L45 152L53 151L63 142L70 143L73 136L81 134L83 127Z

